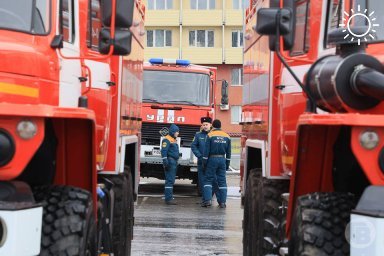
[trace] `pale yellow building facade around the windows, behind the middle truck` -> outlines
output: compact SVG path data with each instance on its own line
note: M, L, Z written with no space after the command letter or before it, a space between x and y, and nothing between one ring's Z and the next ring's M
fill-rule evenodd
M146 0L147 2L148 0ZM191 10L190 0L173 0L173 10L147 10L146 30L172 30L172 47L146 47L146 60L151 57L184 58L198 64L242 64L243 48L232 47L232 31L242 31L243 11L234 10L232 0L216 0L214 10ZM223 41L223 4L225 26ZM179 16L181 15L181 17ZM182 38L180 42L180 18L182 18ZM213 30L214 47L190 47L190 30ZM146 41L145 41L146 44Z

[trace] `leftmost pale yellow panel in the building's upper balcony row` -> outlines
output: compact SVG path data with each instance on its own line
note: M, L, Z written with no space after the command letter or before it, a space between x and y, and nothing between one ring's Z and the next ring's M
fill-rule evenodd
M146 12L146 27L179 26L180 11L178 10L151 10Z

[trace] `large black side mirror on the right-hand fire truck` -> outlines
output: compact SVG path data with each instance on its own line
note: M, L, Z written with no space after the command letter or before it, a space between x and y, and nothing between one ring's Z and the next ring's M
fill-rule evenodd
M257 12L257 23L255 30L260 35L283 36L284 49L289 50L293 45L294 36L294 14L291 8L261 8ZM274 40L275 41L275 40ZM274 49L274 44L270 44Z

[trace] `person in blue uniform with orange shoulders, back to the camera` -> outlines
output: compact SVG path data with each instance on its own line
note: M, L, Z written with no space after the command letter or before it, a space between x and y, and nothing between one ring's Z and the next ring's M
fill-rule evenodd
M203 154L203 168L205 168L204 202L201 206L212 205L212 182L217 177L220 194L220 208L226 207L227 180L226 171L231 160L231 138L221 130L221 122L216 119L212 123L213 129L208 138Z

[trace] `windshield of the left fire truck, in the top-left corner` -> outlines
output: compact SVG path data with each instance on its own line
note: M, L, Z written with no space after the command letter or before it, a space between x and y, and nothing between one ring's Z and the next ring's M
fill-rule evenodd
M0 29L44 35L49 31L49 0L1 0Z

